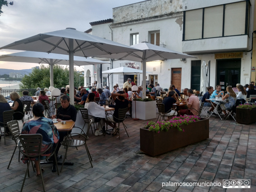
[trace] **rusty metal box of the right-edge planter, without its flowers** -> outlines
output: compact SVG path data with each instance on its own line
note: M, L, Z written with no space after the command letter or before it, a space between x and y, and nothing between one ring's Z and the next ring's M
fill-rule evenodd
M236 108L236 122L240 124L251 124L256 122L256 108Z

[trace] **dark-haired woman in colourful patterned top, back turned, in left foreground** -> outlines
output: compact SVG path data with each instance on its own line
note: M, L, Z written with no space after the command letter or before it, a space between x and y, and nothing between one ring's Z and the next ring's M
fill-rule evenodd
M43 136L41 152L48 148L50 144L52 148L45 152L44 155L40 156L40 160L45 159L47 156L50 156L52 151L56 147L56 143L59 141L59 132L51 119L44 117L44 106L41 103L36 103L32 107L32 112L34 117L23 124L21 134L41 134ZM32 161L35 161L36 165L36 176L40 175L39 162L38 158L31 158ZM22 162L26 164L28 158L22 156ZM44 172L44 169L42 169Z

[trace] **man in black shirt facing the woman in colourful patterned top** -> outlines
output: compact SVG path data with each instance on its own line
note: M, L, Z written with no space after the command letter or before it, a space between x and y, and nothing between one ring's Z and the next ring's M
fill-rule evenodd
M57 118L58 122L61 121L76 121L76 108L73 105L70 105L70 99L68 97L68 95L62 95L60 97L60 103L61 106L57 109L57 114L56 115L52 115L52 118ZM69 131L71 132L71 131ZM59 135L60 135L60 140L58 143L58 146L56 148L56 156L58 155L60 146L61 146L61 141L64 140L64 137L66 135L68 135L68 131L59 131Z

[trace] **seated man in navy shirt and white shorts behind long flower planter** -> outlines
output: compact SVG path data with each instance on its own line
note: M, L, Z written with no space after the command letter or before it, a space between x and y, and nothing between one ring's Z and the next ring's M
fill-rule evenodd
M175 92L170 91L168 93L168 97L165 97L162 103L164 104L164 113L166 113L165 115L169 116L167 121L169 121L169 119L171 119L173 115L177 115L177 112L175 110L172 110L173 103L180 105L180 101L176 97Z

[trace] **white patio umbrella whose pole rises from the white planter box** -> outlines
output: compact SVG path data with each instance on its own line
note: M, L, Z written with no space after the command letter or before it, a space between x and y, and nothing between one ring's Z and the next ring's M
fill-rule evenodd
M137 48L138 52L128 53L116 53L112 54L111 58L119 60L131 60L142 62L143 76L142 76L142 90L143 98L146 97L146 62L155 60L167 60L167 59L182 59L182 58L196 58L191 55L187 55L182 52L166 49L148 42L141 42L139 44L132 45L131 47ZM141 52L142 51L142 52ZM100 57L108 57L108 55L101 55Z

